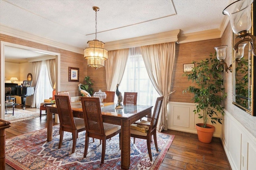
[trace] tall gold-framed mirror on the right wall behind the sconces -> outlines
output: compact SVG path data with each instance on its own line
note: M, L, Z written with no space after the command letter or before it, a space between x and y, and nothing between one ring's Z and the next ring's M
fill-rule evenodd
M255 3L253 3L255 4ZM252 28L250 33L255 34L254 30L254 15L255 6L252 5ZM232 47L240 41L236 38L237 35L232 33ZM243 109L247 113L256 116L256 88L254 75L256 75L256 56L252 54L252 47L249 42L244 42L244 57L238 59L236 51L232 50L232 103L237 107ZM241 44L242 45L242 44Z

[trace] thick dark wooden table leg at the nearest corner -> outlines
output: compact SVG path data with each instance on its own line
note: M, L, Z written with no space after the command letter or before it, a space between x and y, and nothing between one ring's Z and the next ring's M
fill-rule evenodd
M130 120L122 120L121 128L121 168L128 170L130 168Z

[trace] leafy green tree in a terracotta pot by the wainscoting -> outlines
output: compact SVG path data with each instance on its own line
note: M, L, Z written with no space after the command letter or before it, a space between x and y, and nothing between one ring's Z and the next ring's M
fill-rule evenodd
M216 53L214 56L216 56ZM183 93L188 91L194 94L192 100L197 103L194 113L199 115L198 118L203 119L203 123L196 124L198 140L204 143L211 143L215 131L213 125L207 124L208 119L211 120L212 124L216 122L222 124L222 116L225 114L224 107L221 106L222 100L226 98L226 93L222 87L223 78L221 73L223 68L219 67L217 69L218 60L216 57L212 57L211 53L210 59L200 62L193 61L195 67L192 72L184 74L188 77L188 80L197 84L197 86L189 86ZM206 135L208 139L201 135Z

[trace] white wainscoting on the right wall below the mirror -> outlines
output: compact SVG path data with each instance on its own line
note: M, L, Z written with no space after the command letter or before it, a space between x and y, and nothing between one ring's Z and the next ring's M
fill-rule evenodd
M256 138L225 110L222 145L232 170L255 170Z

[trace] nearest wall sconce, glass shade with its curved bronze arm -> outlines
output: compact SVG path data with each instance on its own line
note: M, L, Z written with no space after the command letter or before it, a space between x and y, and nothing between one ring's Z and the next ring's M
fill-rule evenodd
M236 38L242 38L234 45L234 50L238 52L238 46L244 41L249 41L252 46L252 54L256 53L256 37L248 33L252 27L251 4L254 0L238 0L227 6L222 14L227 15L230 20L232 31L238 34ZM245 38L245 37L250 38Z

